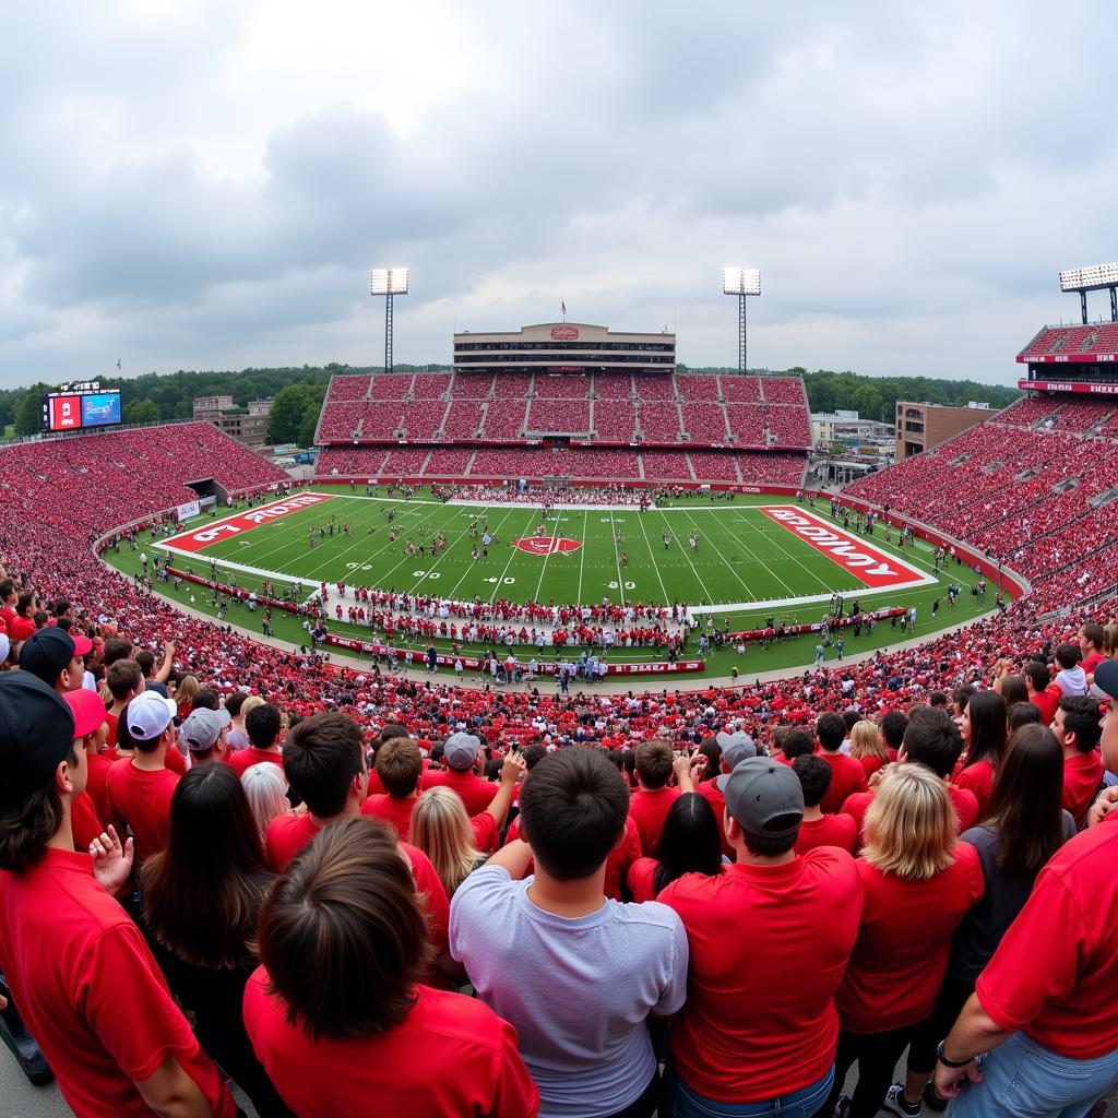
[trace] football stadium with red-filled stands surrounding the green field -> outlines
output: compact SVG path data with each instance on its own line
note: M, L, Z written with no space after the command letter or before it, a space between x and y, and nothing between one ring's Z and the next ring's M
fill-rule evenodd
M262 709L276 711L277 727L281 710L291 723L282 765L292 766L293 793L299 769L291 756L313 740L315 716L342 712L361 738L360 795L371 790L366 747L376 751L375 775L386 789L360 812L383 809L378 817L410 825L410 836L405 830L400 839L417 843L413 809L420 815L415 805L432 796L439 758L453 779L453 757L465 748L468 762L484 749L476 760L484 759L493 783L476 783L479 804L489 807L466 822L490 819L487 837L477 842L495 847L518 774L529 764L521 755L536 765L552 754L572 764L604 754L634 774L631 836L614 844L605 863L606 896L666 899L674 884L657 892L637 874L642 863L651 873L650 855L663 850L650 836L659 830L641 830L647 819L635 806L652 787L644 781L657 750L663 765L675 766L674 795L692 787L692 771L700 778L697 765L720 764L732 775L757 751L792 765L802 729L809 731L798 736L807 752L817 736L826 754L830 735L837 749L843 732L856 736L870 724L877 740L878 723L882 735L890 718L902 728L916 724L929 707L944 709L932 712L945 724L944 711L954 710L969 726L968 700L982 707L974 694L994 695L1002 711L1011 697L1031 707L1034 694L1040 701L1049 694L1035 681L1049 679L1049 664L1053 673L1067 666L1068 648L1073 659L1090 654L1098 671L1091 679L1109 679L1099 664L1118 657L1118 565L1109 547L1118 498L1109 455L1118 437L1116 354L1118 324L1043 326L1017 354L1023 398L845 489L813 484L800 378L678 372L675 338L666 333L567 322L457 333L449 370L334 376L311 476L278 468L208 423L122 427L112 392L96 382L63 386L42 399L44 436L0 448L6 669L21 657L37 663L27 650L41 643L38 631L60 626L75 648L78 636L88 638L86 666L95 684L104 681L106 703L119 699L113 688L124 664L145 656L154 671L163 656L180 736L195 732L199 714L199 724L220 719L206 703L240 709L246 695L258 697ZM1050 377L1053 363L1061 366L1059 381ZM899 413L898 432L901 421ZM121 718L133 733L127 711L141 700L135 689L126 693ZM908 749L907 733L903 740ZM576 745L595 748L563 748ZM220 759L209 754L225 746L179 748L193 771ZM417 781L427 790L408 802L404 818L391 806L396 778L387 758L406 761L408 749L423 769L405 779L414 795ZM674 760L673 749L682 750ZM747 760L729 760L739 755ZM240 775L237 755L229 756ZM800 780L807 769L799 761L807 759L796 761ZM893 751L846 760L864 786L862 767L869 776L896 759ZM112 768L130 764L121 758ZM421 775L428 765L432 773ZM890 766L898 774L921 767ZM779 768L767 764L766 771ZM880 787L901 778L887 776ZM983 789L972 795L966 769L954 779L956 807L945 798L945 811L963 827L966 797L973 823ZM1077 802L1079 823L1100 787L1093 769L1090 781ZM699 785L694 798L709 798L716 785ZM732 787L726 785L727 797ZM839 816L823 818L854 813L851 800L860 795L872 796L855 789L830 807L824 799ZM385 804L370 807L373 800ZM352 806L357 814L358 802ZM527 799L518 809L518 818L531 815ZM274 870L297 849L277 854L275 827L288 819L316 828L324 817L307 802L302 811L309 814L273 817L262 831ZM843 840L851 850L855 824L862 825L850 822L851 839ZM127 825L136 840L143 836L139 816ZM505 850L524 846L515 826ZM666 826L663 816L656 826ZM79 849L91 837L94 846L101 842L100 819L79 824L75 816L74 827ZM338 842L369 839L344 824L328 832ZM738 834L745 856L752 847ZM579 832L575 845L584 837ZM721 841L724 850L728 840ZM329 846L316 840L307 849L326 856ZM831 851L825 856L840 853L823 849ZM421 851L409 856L413 892L443 896L445 887L430 932L445 944L447 897L466 887L436 877L433 862L416 861ZM292 864L307 866L311 859ZM430 877L420 887L424 864ZM296 879L286 873L277 888ZM846 920L845 901L839 903L826 918L814 917L816 926ZM481 964L468 961L463 935L459 926L456 950L480 987ZM447 974L455 977L432 969L424 982L453 987L466 978L461 967ZM249 1030L254 996L249 985ZM45 1027L40 1022L37 1031ZM34 1081L49 1078L34 1041L23 1033L12 1039L10 1024L3 1033ZM888 1073L907 1033L900 1043L889 1049ZM258 1114L291 1112L286 1088L281 1102L272 1081L254 1082L250 1068L226 1059L244 1092L238 1101ZM283 1080L280 1068L268 1073L276 1084ZM517 1073L503 1072L505 1081ZM523 1074L522 1109L509 1114L536 1112L537 1088ZM826 1090L819 1083L823 1093L832 1090L830 1079ZM841 1083L834 1079L833 1092ZM863 1065L860 1089L879 1088ZM74 1087L67 1081L64 1089ZM653 1112L650 1090L641 1114ZM840 1099L834 1112L849 1114L842 1109L849 1105ZM314 1110L310 1102L294 1106ZM465 1112L455 1109L461 1100L448 1106L440 1112ZM910 1106L919 1111L918 1102Z

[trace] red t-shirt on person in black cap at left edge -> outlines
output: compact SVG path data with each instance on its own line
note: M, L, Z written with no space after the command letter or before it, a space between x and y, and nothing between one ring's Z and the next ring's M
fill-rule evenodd
M0 967L83 1118L151 1118L134 1084L169 1058L218 1118L233 1118L217 1069L143 936L94 880L88 854L51 849L26 873L0 871Z

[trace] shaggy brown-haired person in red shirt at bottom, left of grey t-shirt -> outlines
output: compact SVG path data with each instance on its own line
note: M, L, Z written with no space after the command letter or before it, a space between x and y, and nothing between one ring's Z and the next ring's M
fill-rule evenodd
M482 1002L420 984L423 910L372 821L335 824L295 860L264 904L259 942L245 1026L297 1114L538 1112L515 1030Z

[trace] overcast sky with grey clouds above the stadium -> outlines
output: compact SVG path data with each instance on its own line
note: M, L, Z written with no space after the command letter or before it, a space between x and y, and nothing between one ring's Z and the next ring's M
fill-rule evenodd
M0 6L0 386L673 325L733 364L1015 379L1118 256L1118 7ZM1092 313L1106 314L1105 294Z

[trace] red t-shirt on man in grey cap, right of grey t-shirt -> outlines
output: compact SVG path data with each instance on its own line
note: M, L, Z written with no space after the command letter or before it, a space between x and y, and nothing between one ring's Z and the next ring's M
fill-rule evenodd
M689 873L657 900L680 915L691 950L688 1001L671 1032L688 1087L746 1103L822 1079L835 1058L834 993L862 910L850 854L813 850L781 865Z

